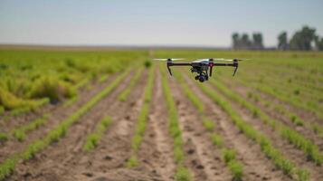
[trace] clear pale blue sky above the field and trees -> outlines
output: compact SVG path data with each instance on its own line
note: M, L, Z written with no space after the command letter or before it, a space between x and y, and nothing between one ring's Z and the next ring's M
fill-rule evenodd
M0 0L0 43L229 47L261 32L265 46L303 25L323 36L323 0Z

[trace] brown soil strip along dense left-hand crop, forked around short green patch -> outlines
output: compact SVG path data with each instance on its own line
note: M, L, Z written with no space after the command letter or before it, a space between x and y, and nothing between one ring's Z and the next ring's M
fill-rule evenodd
M28 124L33 121L33 119L42 117L43 113L47 112L50 114L49 119L45 122L43 126L39 129L34 129L26 134L26 138L23 142L19 142L14 137L11 137L9 140L1 143L2 147L0 148L0 162L2 162L5 157L8 157L13 154L14 151L21 151L27 145L29 145L33 140L37 138L43 138L47 132L51 129L55 128L63 119L66 119L69 115L71 115L74 111L81 108L81 106L89 101L94 95L103 90L106 86L109 85L110 81L112 81L116 76L111 76L107 81L100 84L92 84L91 90L81 90L79 94L79 99L74 102L71 106L65 107L62 104L54 106L48 105L44 107L42 110L26 115L22 115L21 117L16 117L11 119L8 124L5 124L5 129L7 132L13 130L14 128L21 127L22 125ZM129 81L129 76L126 81Z

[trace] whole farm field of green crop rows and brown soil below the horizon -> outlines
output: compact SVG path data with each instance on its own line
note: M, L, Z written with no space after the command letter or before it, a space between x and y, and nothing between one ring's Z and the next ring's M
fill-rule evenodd
M0 180L323 180L322 52L3 49L0 77Z

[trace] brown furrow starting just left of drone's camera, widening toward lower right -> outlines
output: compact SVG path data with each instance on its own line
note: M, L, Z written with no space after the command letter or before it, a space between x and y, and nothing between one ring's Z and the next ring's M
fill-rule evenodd
M232 120L221 108L204 95L204 92L195 85L194 80L190 80L187 76L184 77L191 89L204 103L205 112L208 113L210 118L214 119L224 142L237 151L238 158L243 164L245 180L290 180L289 177L284 176L280 170L273 166L271 160L261 153L261 148L257 144L246 138L233 125Z

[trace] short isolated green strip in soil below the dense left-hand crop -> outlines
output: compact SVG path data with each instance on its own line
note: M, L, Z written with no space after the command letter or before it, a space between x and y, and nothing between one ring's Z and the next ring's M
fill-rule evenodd
M19 127L17 129L14 129L12 131L13 137L18 139L19 141L24 141L26 137L26 133L43 126L45 122L48 120L49 116L50 116L49 114L43 114L41 118L34 119L32 122L22 127Z

